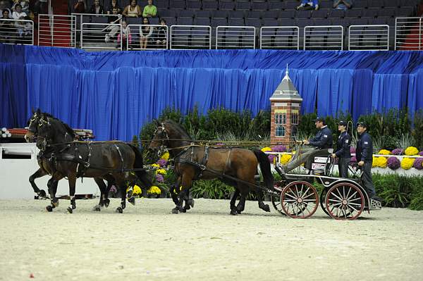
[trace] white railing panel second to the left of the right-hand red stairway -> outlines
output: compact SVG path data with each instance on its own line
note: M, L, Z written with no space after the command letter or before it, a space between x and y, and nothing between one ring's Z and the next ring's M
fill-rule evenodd
M319 25L304 27L305 50L343 50L343 26Z

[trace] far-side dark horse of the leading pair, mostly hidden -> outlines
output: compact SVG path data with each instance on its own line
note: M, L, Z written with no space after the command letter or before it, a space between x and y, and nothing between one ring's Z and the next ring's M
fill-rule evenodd
M53 118L53 116L50 115L49 113L44 113L44 114L47 115L48 117ZM37 109L37 111L32 111L32 116L27 121L28 130L27 130L27 133L25 134L26 142L33 142L35 137L37 137L37 127L38 127L38 122L40 118L41 118L41 111L39 109ZM66 142L75 141L76 136L73 130L66 130L64 139ZM34 192L38 195L39 199L47 199L47 194L44 191L44 189L39 189L37 187L37 185L35 184L35 180L39 177L44 177L44 175L51 175L51 170L52 170L51 156L52 155L54 155L54 149L52 146L49 146L45 151L39 151L39 154L37 155L37 162L38 162L39 169L35 173L30 175L30 178L29 178L32 189L34 189ZM104 181L102 180L102 178L99 178L99 177L94 177L94 182L97 183L101 194L100 194L99 204L94 206L93 210L100 211L101 207L103 206L105 206L106 208L109 207L110 200L107 198L107 196L109 194L109 190L111 189L111 186L114 185L114 179L113 177L110 177L107 180L107 186L104 184ZM51 187L52 188L51 192L53 192L54 194L56 194L56 191L57 191L57 183L58 182L55 182L55 185ZM51 192L49 192L49 194ZM135 204L135 198L132 196L128 198L128 201L131 204Z

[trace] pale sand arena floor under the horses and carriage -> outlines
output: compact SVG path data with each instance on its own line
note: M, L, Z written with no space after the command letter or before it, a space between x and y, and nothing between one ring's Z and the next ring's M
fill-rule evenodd
M307 220L247 201L197 199L173 215L170 199L0 201L0 280L423 280L423 212L384 208L355 221L323 211ZM34 278L30 278L30 275Z

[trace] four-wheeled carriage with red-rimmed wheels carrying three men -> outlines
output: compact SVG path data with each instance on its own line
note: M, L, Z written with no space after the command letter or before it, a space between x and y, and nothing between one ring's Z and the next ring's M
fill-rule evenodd
M314 162L322 162L321 157L316 157ZM351 178L333 176L333 166L330 156L325 159L323 168L315 168L307 174L286 174L276 164L274 168L281 180L276 182L274 191L268 191L276 211L291 218L309 218L320 204L331 218L355 220L363 211L381 209L381 202L370 198L362 185L362 173L357 166L349 166ZM312 185L314 182L323 187L320 194Z

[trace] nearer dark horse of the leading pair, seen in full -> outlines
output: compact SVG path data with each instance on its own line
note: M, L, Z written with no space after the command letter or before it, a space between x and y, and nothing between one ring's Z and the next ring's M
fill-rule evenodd
M135 171L135 175L145 187L152 186L152 181L142 168L142 155L137 147L123 142L66 142L66 134L73 135L74 132L61 120L41 113L37 125L36 145L41 151L46 151L49 147L54 150L52 159L50 159L52 177L48 183L51 206L47 206L47 211L51 211L59 205L59 200L53 193L53 187L63 177L68 177L69 182L71 196L71 206L67 208L69 213L76 208L75 182L77 177L114 180L123 191L125 190L125 181L133 181L129 172ZM123 209L125 209L126 192L121 192L121 194L121 206L116 209L118 213L123 213ZM104 198L106 198L106 194L102 194L100 201Z

